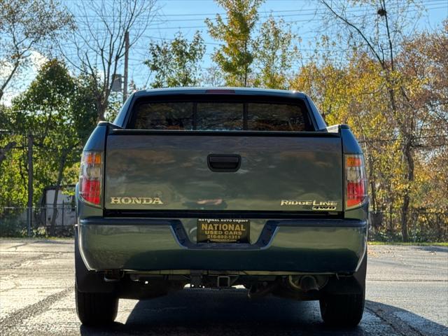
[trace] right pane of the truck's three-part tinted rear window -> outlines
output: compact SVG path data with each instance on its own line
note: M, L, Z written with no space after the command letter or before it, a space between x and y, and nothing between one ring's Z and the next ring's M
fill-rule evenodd
M292 131L307 129L300 106L286 104L248 103L248 130Z

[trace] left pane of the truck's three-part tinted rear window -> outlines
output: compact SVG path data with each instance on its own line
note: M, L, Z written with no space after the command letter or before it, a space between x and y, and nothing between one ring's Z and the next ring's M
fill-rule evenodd
M139 104L134 113L137 130L193 129L193 102Z

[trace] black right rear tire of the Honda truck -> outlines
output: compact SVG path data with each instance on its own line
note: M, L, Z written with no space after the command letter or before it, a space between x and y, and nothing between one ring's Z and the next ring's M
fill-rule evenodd
M321 298L321 316L328 325L355 327L363 318L365 293L326 295Z

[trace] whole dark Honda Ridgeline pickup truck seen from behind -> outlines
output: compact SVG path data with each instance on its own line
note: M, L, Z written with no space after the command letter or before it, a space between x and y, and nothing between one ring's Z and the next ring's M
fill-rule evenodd
M363 153L301 92L135 92L87 141L76 202L86 325L186 285L319 300L331 325L363 316Z

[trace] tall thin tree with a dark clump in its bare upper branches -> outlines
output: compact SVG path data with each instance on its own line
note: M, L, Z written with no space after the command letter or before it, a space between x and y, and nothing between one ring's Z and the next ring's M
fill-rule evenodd
M409 89L405 84L411 83L404 78L398 69L397 54L402 45L409 20L407 9L409 3L380 0L372 3L366 0L329 2L321 0L327 10L328 22L336 24L337 36L355 50L363 50L371 55L381 66L381 78L384 81L388 109L388 123L398 132L400 151L404 166L402 186L400 186L401 200L401 231L402 239L408 240L408 212L411 203L412 184L414 182L414 160L416 138L420 134L421 123L418 123L419 111L409 98ZM369 10L364 15L350 15L347 8L358 4L365 5ZM393 13L395 12L395 13ZM393 15L391 15L393 13ZM419 15L418 10L414 10Z

